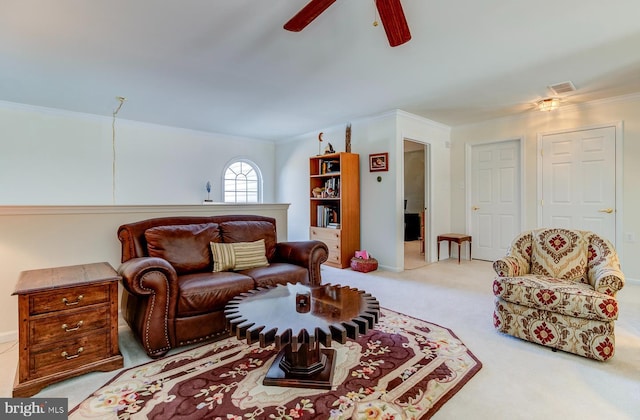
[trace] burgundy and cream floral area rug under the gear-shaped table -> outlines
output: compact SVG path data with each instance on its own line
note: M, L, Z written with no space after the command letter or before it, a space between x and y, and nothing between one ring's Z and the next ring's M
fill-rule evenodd
M273 346L235 337L122 371L70 419L428 419L482 364L447 328L382 309L335 343L331 390L263 386Z

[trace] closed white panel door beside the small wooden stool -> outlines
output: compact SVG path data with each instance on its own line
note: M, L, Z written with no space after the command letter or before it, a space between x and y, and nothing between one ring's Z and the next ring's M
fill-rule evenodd
M472 256L493 261L521 230L520 140L472 146L470 174Z

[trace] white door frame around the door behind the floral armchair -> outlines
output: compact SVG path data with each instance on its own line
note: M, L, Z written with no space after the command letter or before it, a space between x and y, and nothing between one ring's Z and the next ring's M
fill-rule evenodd
M553 131L545 131L538 133L538 144L536 151L536 170L537 170L537 218L536 223L538 226L542 226L542 138L544 136L554 135L554 134L564 134L564 133L572 133L574 131L588 131L595 130L598 128L607 128L613 127L616 133L616 167L615 167L615 178L616 178L616 221L615 221L615 230L616 230L616 240L613 244L616 247L616 251L618 255L622 254L622 246L624 243L623 233L622 233L622 165L623 165L623 122L617 121L612 123L605 124L595 124L595 125L587 125L581 127L574 128L566 128L563 130L553 130Z

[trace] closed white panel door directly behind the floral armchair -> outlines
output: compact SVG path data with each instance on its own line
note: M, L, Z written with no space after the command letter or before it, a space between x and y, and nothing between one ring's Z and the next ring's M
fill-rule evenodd
M616 128L542 136L542 226L616 243Z

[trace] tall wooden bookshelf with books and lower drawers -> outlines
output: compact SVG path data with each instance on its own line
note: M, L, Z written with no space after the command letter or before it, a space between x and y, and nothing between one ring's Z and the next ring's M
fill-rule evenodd
M332 153L309 159L309 237L327 244L325 264L345 268L360 249L360 157Z

